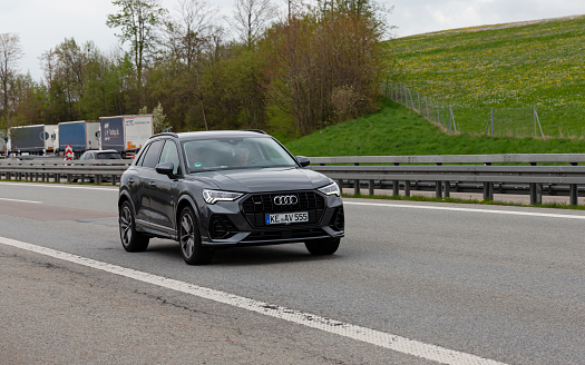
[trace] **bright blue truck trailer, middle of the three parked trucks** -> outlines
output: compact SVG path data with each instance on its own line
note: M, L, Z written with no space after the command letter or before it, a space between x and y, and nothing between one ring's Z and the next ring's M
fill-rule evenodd
M99 149L99 121L78 120L59 124L59 151L71 146L76 157L90 149Z

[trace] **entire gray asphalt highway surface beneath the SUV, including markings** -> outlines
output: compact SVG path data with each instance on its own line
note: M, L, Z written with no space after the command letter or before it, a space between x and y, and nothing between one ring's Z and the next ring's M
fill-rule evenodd
M191 267L126 253L116 198L0 182L0 363L585 363L585 213L347 199L331 257Z

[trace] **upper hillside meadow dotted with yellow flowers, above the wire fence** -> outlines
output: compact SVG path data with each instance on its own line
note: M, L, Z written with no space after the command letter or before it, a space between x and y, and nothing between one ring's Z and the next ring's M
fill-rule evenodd
M585 138L585 16L399 38L386 47L397 80L452 105L462 132L482 134L494 107L508 116L496 129L511 119L534 135L536 106L546 136Z

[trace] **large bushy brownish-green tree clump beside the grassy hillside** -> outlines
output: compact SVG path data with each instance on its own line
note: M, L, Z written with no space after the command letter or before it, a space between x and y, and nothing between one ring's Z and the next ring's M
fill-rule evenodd
M261 51L269 99L294 117L299 134L374 108L383 71L382 29L369 3L334 0L266 32Z

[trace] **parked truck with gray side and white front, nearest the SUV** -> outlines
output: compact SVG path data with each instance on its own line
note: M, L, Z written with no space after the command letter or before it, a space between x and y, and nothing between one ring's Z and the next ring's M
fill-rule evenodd
M100 117L100 148L119 151L123 157L137 152L153 136L152 115Z

